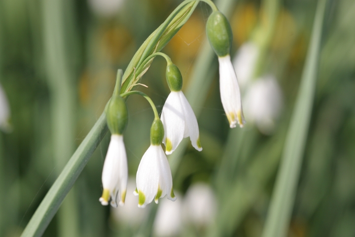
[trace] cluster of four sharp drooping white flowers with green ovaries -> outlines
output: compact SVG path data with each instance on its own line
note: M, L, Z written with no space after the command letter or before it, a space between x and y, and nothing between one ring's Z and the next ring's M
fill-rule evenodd
M222 105L230 127L236 127L237 123L242 127L245 121L240 90L229 55L232 43L231 28L226 17L216 6L213 9L214 12L207 20L206 32L219 59ZM110 199L113 207L117 207L117 202L123 205L125 201L128 168L122 133L127 126L128 112L122 97L131 94L144 96L155 114L151 126L151 145L141 158L136 174L134 194L138 196L138 207L146 207L153 199L158 203L159 198L165 195L172 201L176 199L166 155L171 154L183 138L190 137L192 146L198 151L202 150L196 116L182 91L183 78L180 70L163 53L153 53L145 61L148 62L155 56L163 56L166 59L166 81L170 89L160 118L148 95L140 91L119 93L122 78L122 71L119 70L114 95L106 109L107 123L112 136L102 171L103 193L99 199L102 205L108 205ZM161 147L162 143L165 144L165 153Z

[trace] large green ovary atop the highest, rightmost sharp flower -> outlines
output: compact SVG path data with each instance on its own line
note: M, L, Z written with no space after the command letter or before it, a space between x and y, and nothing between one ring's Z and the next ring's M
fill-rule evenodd
M207 38L219 57L230 53L233 34L227 18L219 11L214 11L208 17L206 24Z

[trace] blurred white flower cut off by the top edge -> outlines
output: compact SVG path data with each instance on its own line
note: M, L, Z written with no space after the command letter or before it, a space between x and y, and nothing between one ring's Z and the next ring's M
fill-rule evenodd
M88 0L92 11L100 16L114 16L125 0Z

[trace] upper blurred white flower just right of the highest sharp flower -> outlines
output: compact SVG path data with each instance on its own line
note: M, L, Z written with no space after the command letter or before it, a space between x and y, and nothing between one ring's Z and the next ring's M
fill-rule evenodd
M253 79L256 63L259 57L259 49L253 42L246 42L240 46L234 56L233 66L242 90Z

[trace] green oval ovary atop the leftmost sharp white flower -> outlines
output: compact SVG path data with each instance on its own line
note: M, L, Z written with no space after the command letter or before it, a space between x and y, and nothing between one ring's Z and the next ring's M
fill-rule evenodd
M128 110L124 99L113 95L106 111L107 125L112 134L122 134L128 123Z

